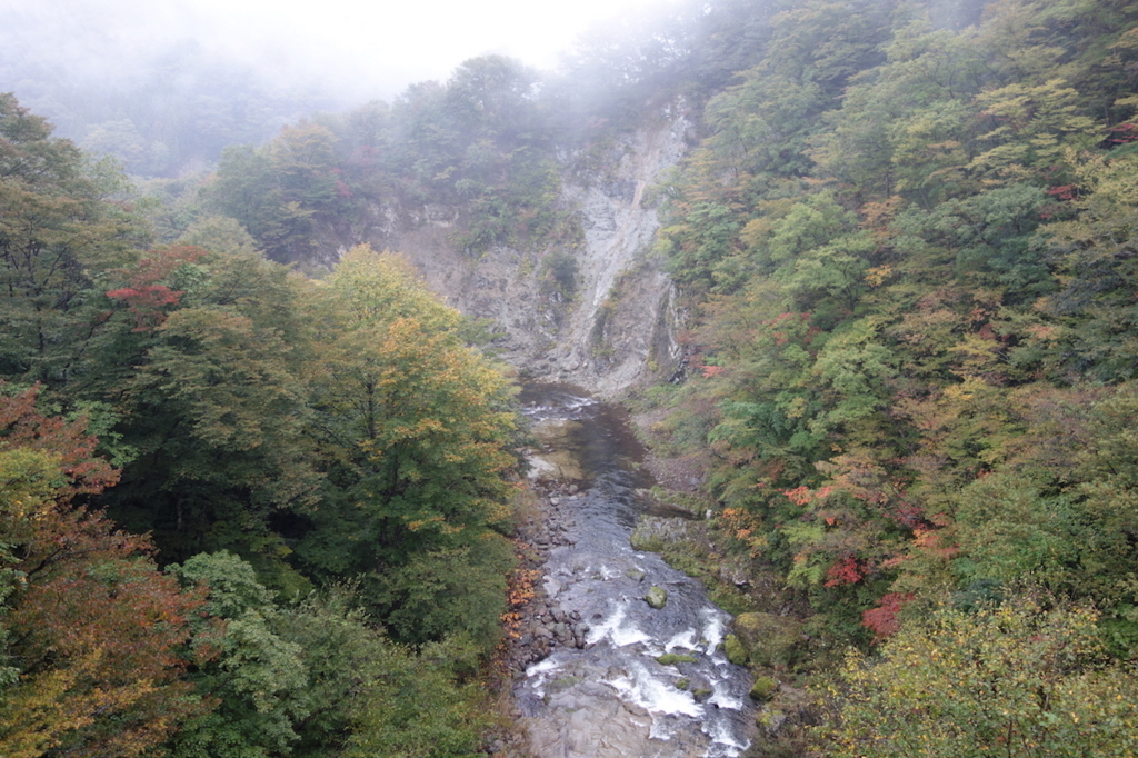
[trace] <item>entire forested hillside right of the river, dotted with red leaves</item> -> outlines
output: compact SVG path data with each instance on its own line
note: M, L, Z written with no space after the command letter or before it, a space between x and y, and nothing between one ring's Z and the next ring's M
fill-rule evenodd
M797 3L708 101L659 190L691 371L644 402L780 587L752 665L869 651L815 749L1129 755L1138 7L930 10Z

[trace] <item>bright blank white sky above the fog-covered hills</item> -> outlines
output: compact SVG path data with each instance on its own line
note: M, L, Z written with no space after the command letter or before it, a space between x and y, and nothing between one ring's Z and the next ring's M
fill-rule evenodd
M7 34L57 38L88 73L197 39L218 56L297 79L335 80L360 98L445 80L485 53L553 68L592 24L668 0L0 0ZM36 40L24 40L31 44ZM3 51L0 50L0 56ZM89 61L89 63L88 63ZM2 88L0 88L2 89Z

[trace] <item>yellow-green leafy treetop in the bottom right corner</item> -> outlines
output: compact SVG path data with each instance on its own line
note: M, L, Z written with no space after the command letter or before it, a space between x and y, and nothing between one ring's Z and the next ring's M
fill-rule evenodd
M838 756L1132 755L1138 682L1100 666L1095 618L1025 601L913 619L847 656L841 718L816 734Z

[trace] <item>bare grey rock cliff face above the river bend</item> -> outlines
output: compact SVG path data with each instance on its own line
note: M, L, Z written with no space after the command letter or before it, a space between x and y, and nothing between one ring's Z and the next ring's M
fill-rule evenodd
M406 254L428 285L463 313L493 321L502 356L537 378L601 396L670 376L681 351L675 289L650 254L659 228L649 189L684 155L691 124L673 104L635 132L562 160L561 203L578 241L542 250L498 247L478 258L455 249L462 211L372 209L352 244ZM341 244L341 247L345 247ZM571 256L569 291L550 288L550 256Z

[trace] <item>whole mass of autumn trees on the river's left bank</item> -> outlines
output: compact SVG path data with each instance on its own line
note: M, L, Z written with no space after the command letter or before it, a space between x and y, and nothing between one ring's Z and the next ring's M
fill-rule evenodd
M519 432L462 316L366 247L151 245L11 96L0 133L0 752L477 752Z

